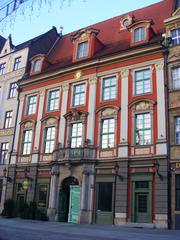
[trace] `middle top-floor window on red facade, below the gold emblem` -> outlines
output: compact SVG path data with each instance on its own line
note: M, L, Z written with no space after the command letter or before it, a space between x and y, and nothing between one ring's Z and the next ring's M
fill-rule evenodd
M73 88L73 106L85 104L85 87L86 84L75 85Z

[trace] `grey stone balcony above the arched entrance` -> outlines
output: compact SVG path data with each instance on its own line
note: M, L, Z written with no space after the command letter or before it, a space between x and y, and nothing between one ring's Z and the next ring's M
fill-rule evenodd
M53 153L54 161L65 160L95 160L96 149L92 147L84 148L59 148Z

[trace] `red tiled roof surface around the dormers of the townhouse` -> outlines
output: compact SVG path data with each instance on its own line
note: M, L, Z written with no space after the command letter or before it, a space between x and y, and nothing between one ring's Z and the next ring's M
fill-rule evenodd
M88 26L87 29L94 28L100 31L97 37L105 46L102 48L102 50L97 52L95 56L102 56L115 51L117 52L130 48L129 31L119 31L120 19L125 15L134 17L134 21L152 19L154 22L152 28L155 32L155 36L151 39L151 42L159 40L161 34L165 31L165 26L163 23L164 19L170 17L174 11L174 2L174 0L164 0L148 7L131 11L121 16ZM71 36L74 33L75 32L66 34L59 39L48 57L52 64L57 64L60 67L66 66L66 64L69 65L71 63L73 46Z

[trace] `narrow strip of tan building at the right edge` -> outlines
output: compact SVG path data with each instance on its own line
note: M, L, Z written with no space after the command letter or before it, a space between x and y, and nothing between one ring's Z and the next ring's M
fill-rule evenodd
M168 55L170 176L172 227L180 229L180 2L165 20L166 38L171 38Z

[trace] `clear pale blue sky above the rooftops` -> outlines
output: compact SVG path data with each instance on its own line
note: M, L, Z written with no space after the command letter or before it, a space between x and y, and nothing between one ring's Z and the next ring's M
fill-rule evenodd
M36 0L37 2L39 0ZM45 1L45 0L44 0ZM49 4L43 4L38 10L38 4L34 5L33 12L27 3L17 10L16 15L4 20L0 26L0 35L7 38L12 35L13 44L17 45L47 32L55 26L66 34L91 24L124 14L126 12L142 8L160 0L49 0ZM24 9L24 15L21 14Z

